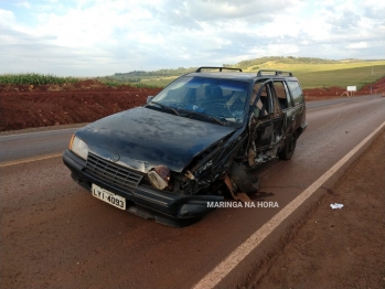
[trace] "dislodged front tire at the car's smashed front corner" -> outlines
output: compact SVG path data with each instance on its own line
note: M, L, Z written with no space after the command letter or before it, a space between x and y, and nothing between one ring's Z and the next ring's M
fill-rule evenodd
M236 162L232 163L229 168L229 179L234 182L238 191L253 194L258 192L259 179L257 176L250 175L242 165Z

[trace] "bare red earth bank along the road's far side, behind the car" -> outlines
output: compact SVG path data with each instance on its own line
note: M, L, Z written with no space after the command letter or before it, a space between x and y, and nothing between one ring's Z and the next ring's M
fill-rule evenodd
M146 103L160 88L109 87L97 81L64 85L0 85L0 131L90 122ZM385 92L385 77L373 85ZM304 89L307 100L340 97L344 88ZM357 95L370 94L370 85Z

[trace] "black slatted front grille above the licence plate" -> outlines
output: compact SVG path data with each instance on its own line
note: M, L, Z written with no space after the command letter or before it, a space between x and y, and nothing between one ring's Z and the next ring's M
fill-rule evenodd
M99 176L100 179L107 180L111 184L122 188L136 188L143 176L141 173L101 159L89 152L86 171Z

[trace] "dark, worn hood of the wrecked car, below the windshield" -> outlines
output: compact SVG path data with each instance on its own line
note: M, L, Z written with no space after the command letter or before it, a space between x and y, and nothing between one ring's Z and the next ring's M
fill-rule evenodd
M181 172L200 152L235 129L137 107L76 131L89 152L148 172L158 164ZM119 154L118 157L116 156Z

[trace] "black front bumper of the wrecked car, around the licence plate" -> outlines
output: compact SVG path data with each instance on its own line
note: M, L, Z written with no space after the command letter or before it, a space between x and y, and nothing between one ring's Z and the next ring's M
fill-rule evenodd
M202 217L214 210L207 202L221 202L224 199L220 195L179 195L140 183L130 189L120 188L87 170L86 161L71 150L63 152L63 162L71 170L71 176L86 190L90 191L95 183L125 197L126 211L160 223L164 222L164 217L181 221Z

